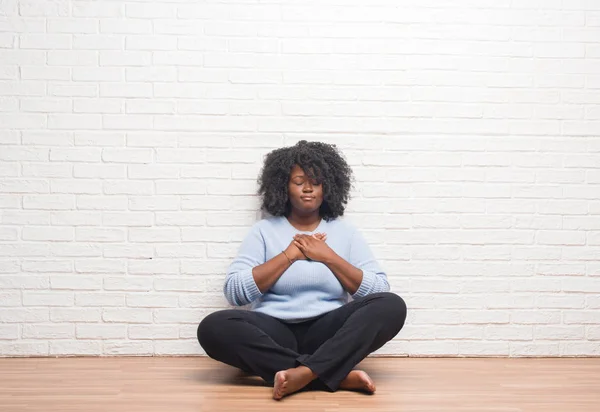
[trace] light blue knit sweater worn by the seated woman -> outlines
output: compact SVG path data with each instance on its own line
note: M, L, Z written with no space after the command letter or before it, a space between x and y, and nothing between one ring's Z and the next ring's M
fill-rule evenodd
M303 232L281 216L255 223L242 242L237 257L227 270L223 288L229 303L234 306L252 304L252 310L286 322L302 322L347 303L350 294L326 265L315 261L294 262L265 293L256 286L252 268L280 254L296 233L318 232L327 234L327 244L340 257L362 270L362 283L352 298L390 290L386 274L363 236L352 225L341 219L329 222L322 219L314 231Z

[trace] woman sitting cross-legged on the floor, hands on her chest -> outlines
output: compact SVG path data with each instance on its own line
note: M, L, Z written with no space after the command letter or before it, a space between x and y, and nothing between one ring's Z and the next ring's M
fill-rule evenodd
M404 325L362 235L338 219L352 170L334 145L301 141L270 152L258 179L262 209L231 263L224 293L235 306L198 327L213 359L256 374L281 399L302 388L375 392L354 366ZM349 301L352 297L352 301Z

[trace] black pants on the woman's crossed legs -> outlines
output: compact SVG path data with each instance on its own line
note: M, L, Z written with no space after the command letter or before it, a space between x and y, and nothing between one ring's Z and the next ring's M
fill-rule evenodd
M383 292L301 323L221 310L202 320L198 341L211 358L269 384L278 371L304 365L318 376L310 388L335 391L356 364L398 334L405 319L404 300Z

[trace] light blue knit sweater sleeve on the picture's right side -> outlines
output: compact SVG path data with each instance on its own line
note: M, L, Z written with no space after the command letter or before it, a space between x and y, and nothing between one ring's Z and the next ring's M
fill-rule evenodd
M360 298L371 293L388 292L390 290L387 275L379 267L375 256L371 252L371 248L358 230L355 230L352 234L350 263L363 272L362 282L358 290L352 295L353 298Z

